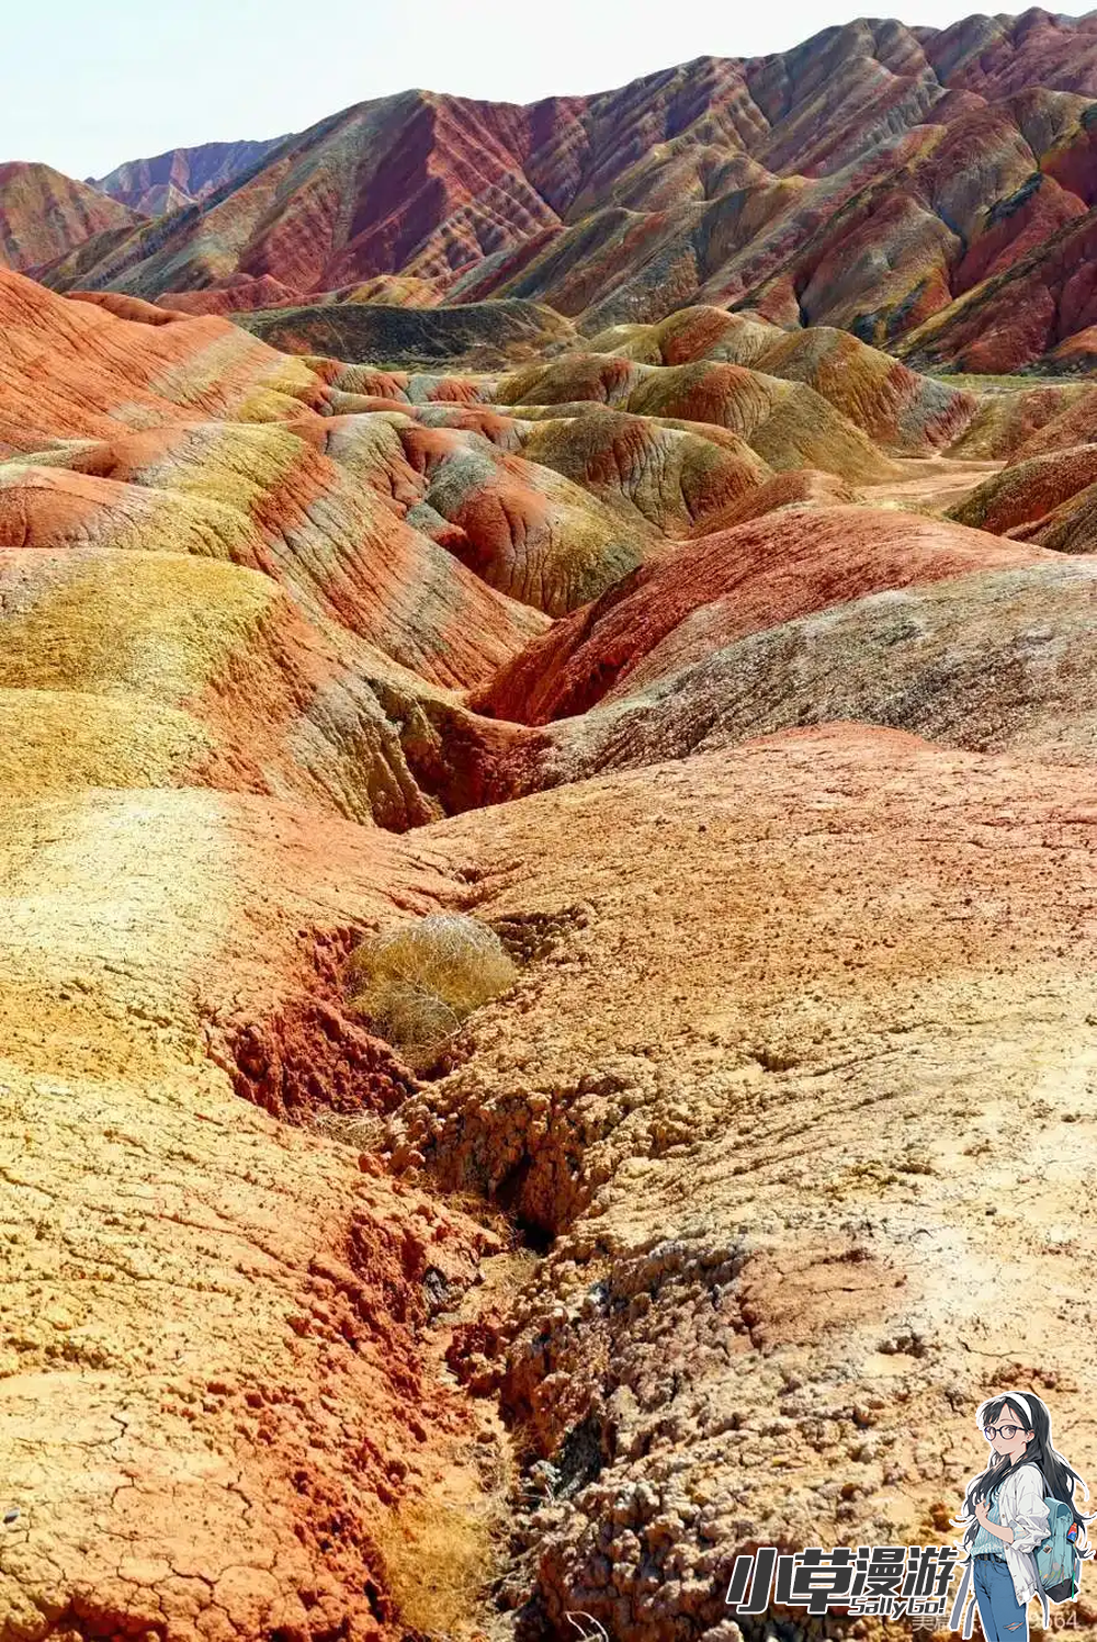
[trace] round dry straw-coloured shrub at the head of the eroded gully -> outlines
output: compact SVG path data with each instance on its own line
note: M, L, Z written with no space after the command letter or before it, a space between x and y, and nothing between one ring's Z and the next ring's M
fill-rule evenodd
M435 913L365 941L351 957L350 1007L391 1044L422 1051L514 985L517 969L494 929Z

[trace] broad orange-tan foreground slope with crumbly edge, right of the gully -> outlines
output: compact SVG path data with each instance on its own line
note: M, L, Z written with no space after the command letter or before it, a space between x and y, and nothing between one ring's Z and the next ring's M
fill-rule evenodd
M1094 1470L1087 780L834 727L430 829L480 916L590 906L389 1120L547 1246L466 1340L529 1635L695 1639L739 1550L948 1540L989 1384Z

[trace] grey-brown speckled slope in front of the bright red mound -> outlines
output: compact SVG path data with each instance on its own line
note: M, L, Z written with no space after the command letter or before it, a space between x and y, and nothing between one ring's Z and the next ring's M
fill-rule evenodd
M874 593L714 649L654 683L627 678L599 708L553 726L548 742L516 742L503 790L517 795L836 719L975 752L1092 764L1095 611L1097 573L1087 562Z

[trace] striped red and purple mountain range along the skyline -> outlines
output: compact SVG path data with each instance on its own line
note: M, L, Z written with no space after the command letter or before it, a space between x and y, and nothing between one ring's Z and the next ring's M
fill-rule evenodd
M885 343L1018 263L1040 282L1094 204L1095 54L1092 18L1031 10L857 21L529 107L402 92L273 144L118 167L117 199L179 209L41 276L210 312L381 279L394 302L529 297L586 330L708 302ZM1074 309L1087 325L1074 296L1054 325L1010 315L994 368L1063 345Z

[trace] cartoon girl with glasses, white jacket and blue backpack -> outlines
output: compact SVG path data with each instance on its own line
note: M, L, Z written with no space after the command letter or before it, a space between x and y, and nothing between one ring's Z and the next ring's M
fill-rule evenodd
M990 1443L990 1463L969 1486L964 1511L954 1517L966 1527L967 1570L956 1606L952 1629L957 1627L969 1583L975 1588L975 1604L987 1642L1028 1642L1028 1604L1038 1596L1048 1627L1048 1598L1067 1601L1041 1580L1036 1552L1049 1543L1053 1509L1048 1501L1061 1501L1067 1512L1056 1511L1056 1535L1074 1565L1086 1550L1086 1522L1074 1504L1077 1483L1086 1499L1089 1488L1067 1461L1051 1447L1051 1414L1031 1391L1021 1396L1007 1391L979 1406L977 1424ZM1069 1583L1069 1581L1067 1581ZM1063 1586L1059 1586L1063 1589ZM969 1609L964 1635L971 1635L974 1614Z

